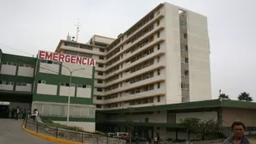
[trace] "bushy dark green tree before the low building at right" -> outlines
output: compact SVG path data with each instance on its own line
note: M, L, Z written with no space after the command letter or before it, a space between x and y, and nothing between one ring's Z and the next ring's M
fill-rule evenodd
M201 136L202 140L205 139L205 135L216 134L219 135L222 128L221 125L215 122L214 119L202 121L197 117L187 117L180 120L180 123L189 132L194 132Z

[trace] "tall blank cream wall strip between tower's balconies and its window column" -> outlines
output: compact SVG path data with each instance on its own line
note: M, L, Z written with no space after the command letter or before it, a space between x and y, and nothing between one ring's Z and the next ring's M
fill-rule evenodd
M179 37L179 16L178 8L166 3L160 10L165 13L165 18L160 25L165 25L165 30L161 33L165 36L165 43L161 48L165 48L166 61L166 104L181 103L181 69L180 69L180 37Z

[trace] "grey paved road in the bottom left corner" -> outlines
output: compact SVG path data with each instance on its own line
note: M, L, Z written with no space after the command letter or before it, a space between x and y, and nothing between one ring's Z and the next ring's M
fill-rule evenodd
M0 144L57 144L22 130L22 120L0 119Z

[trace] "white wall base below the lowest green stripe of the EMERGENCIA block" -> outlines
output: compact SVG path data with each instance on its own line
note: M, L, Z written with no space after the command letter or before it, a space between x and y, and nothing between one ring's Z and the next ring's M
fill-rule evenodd
M66 122L64 122L64 121L53 121L53 123L59 123L59 124L66 125ZM91 123L91 122L69 122L68 125L76 126L81 129L84 129L86 131L95 131L95 123Z

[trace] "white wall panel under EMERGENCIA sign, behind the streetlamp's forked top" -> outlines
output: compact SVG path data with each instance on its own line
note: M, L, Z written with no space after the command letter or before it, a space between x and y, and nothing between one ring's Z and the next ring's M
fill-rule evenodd
M72 73L72 76L76 77L83 77L83 78L92 78L92 66L88 65L80 65L80 64L75 64L75 63L62 63L62 70L61 70L61 75L70 75L70 69L71 71L74 69L79 69L77 71L74 71ZM67 68L68 69L67 69Z

